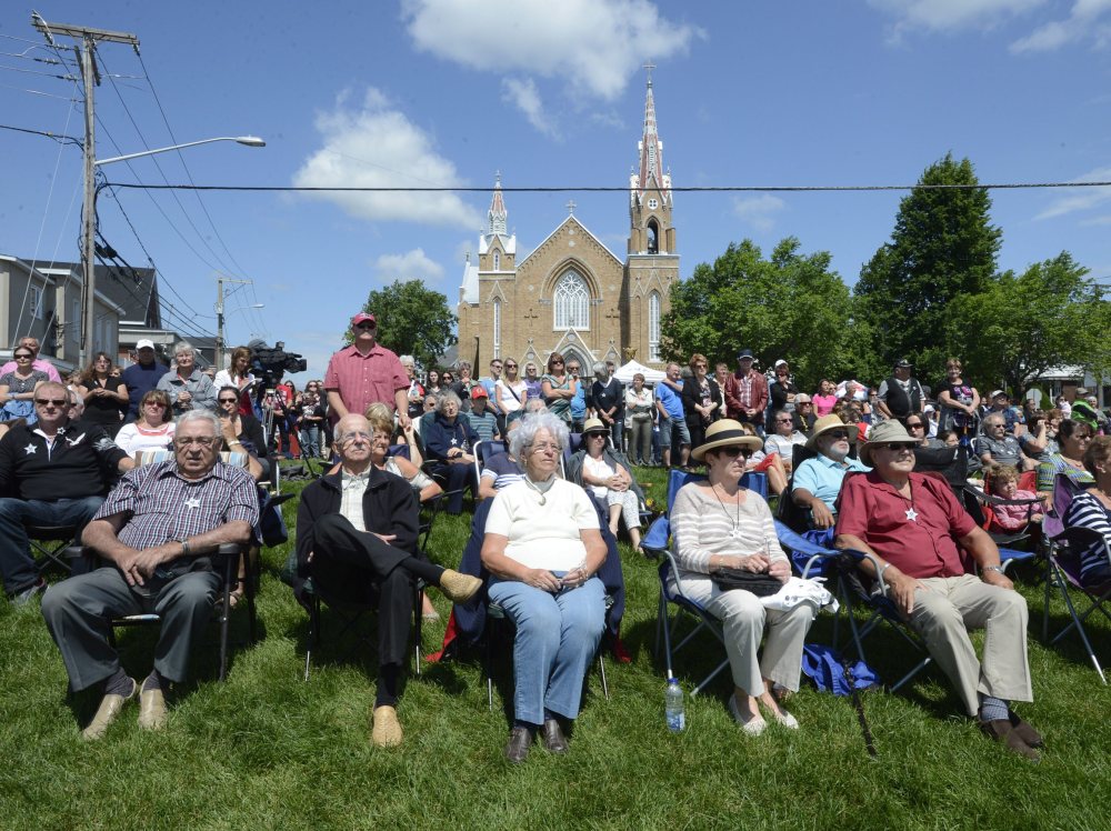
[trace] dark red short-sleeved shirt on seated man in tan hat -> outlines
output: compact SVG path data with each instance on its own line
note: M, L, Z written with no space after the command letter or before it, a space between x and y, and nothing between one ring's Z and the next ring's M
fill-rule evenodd
M911 499L879 473L859 473L841 485L837 533L867 542L880 557L913 578L960 577L968 572L957 544L975 522L949 484L910 474Z

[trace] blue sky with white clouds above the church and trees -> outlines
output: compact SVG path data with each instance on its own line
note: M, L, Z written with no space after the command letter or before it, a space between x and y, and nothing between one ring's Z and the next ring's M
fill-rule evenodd
M645 63L675 187L912 184L952 152L983 183L1111 180L1111 0L43 0L50 22L136 34L98 49L109 182L243 187L617 187L637 162ZM71 41L0 10L0 126L82 134ZM43 61L66 59L60 67ZM34 60L41 59L41 60ZM81 154L0 129L0 253L79 259ZM680 274L751 239L829 251L850 286L899 191L677 193ZM1062 250L1111 278L1111 188L992 191L1001 269ZM619 257L624 193L507 192L519 260L567 217ZM159 270L163 323L262 337L321 377L368 293L420 279L454 310L488 192L106 190L100 229ZM256 304L263 308L253 308ZM743 337L743 331L739 332Z

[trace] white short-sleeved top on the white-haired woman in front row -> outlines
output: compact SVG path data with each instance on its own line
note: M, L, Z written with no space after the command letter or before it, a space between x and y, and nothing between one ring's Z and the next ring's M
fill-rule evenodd
M509 539L506 557L530 569L571 571L587 558L580 531L598 530L598 513L587 492L557 479L547 493L524 481L498 491L487 515L487 533Z

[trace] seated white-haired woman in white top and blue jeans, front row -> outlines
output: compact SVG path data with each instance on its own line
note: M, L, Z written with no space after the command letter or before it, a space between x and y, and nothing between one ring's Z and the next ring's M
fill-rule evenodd
M541 731L565 753L560 719L579 714L582 683L605 627L605 560L598 513L585 492L556 475L567 425L551 413L527 416L510 440L524 479L494 497L482 564L488 594L513 621L513 728L506 758L519 763Z

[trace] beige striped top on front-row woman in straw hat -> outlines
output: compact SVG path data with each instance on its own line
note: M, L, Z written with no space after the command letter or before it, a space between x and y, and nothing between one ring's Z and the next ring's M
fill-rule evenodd
M752 491L744 503L720 502L708 484L691 482L671 508L671 548L680 571L710 573L713 554L763 554L785 560L768 503Z

